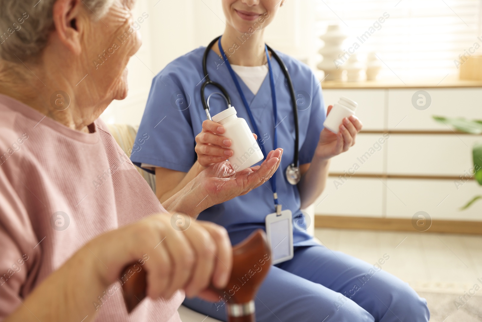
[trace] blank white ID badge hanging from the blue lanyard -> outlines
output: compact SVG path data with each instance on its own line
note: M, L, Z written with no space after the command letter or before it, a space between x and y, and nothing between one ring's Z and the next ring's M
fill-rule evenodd
M291 210L282 210L266 216L266 235L271 247L273 265L293 258L293 216Z

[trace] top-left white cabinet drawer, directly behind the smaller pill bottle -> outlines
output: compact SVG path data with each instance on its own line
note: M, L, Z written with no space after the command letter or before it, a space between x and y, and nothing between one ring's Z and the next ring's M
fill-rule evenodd
M384 129L384 89L323 89L323 99L327 108L328 105L335 104L340 96L358 103L356 115L362 121L364 130Z

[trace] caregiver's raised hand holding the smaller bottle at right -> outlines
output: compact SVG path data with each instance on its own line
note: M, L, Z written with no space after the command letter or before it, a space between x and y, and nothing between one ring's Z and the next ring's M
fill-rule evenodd
M330 113L332 108L332 105L328 106L327 114ZM360 119L352 115L343 119L343 123L336 134L324 128L321 131L315 154L321 159L329 159L332 156L348 151L355 144L357 133L360 132L362 126Z

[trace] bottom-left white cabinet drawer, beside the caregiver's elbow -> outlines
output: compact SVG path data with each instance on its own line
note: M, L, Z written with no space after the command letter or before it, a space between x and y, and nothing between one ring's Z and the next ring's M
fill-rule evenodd
M378 179L329 176L325 191L315 201L315 214L381 217L383 183Z

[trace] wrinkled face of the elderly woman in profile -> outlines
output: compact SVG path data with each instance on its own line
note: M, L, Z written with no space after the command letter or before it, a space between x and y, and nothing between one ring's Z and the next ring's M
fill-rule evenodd
M93 104L127 96L127 62L141 46L134 0L115 0L107 14L94 17L82 39L85 85ZM96 100L96 101L94 101Z

